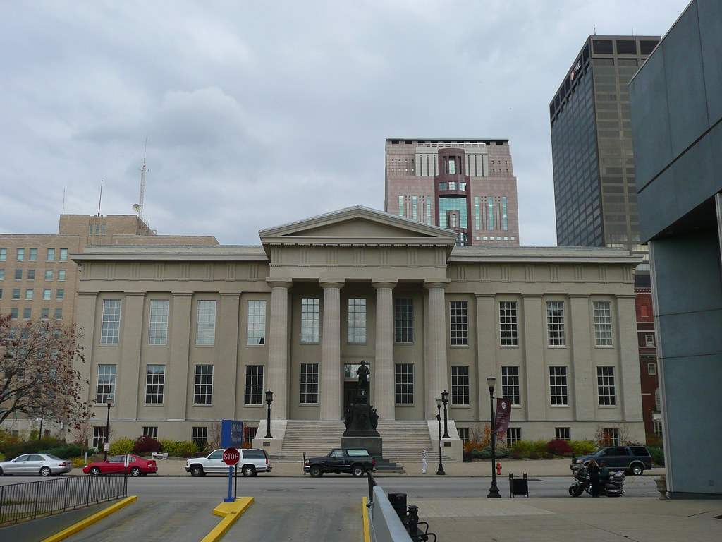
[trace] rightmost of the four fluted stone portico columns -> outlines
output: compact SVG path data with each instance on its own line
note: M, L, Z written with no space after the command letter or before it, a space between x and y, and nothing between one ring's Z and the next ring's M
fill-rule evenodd
M448 283L425 283L429 291L429 314L426 318L425 337L427 341L426 363L424 364L425 400L424 413L427 419L436 416L436 400L443 390L448 390L446 369L446 317L444 289Z

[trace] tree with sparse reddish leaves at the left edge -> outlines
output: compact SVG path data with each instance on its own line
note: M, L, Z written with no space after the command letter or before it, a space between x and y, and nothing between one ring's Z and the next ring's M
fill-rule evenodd
M24 414L77 427L92 416L82 400L88 382L74 369L85 362L80 337L59 320L21 324L0 316L0 423Z

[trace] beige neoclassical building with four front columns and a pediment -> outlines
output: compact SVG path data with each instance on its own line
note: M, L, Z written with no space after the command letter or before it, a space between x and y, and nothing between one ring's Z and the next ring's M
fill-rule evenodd
M643 442L639 257L455 246L454 231L365 207L259 236L71 255L96 438L108 399L113 438L201 444L227 418L264 429L266 390L280 431L339 421L365 361L382 421L435 424L448 390L451 436L464 436L489 420L494 374L513 405L510 442L600 428Z

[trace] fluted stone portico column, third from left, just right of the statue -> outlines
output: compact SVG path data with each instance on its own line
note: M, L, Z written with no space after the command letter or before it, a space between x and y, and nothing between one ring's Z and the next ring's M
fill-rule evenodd
M393 287L395 283L373 283L376 288L376 356L373 404L382 420L396 419L393 368Z

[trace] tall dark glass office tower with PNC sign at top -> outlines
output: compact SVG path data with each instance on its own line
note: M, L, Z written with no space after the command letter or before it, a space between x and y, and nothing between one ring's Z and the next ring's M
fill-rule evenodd
M627 85L659 39L589 36L549 104L559 246L646 254Z

